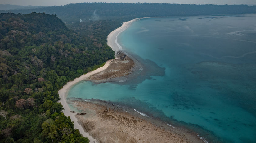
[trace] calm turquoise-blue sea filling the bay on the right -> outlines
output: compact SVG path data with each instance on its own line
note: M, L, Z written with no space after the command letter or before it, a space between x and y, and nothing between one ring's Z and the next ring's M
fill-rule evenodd
M164 76L136 85L81 82L68 97L132 107L209 142L256 142L256 14L141 19L118 42L164 67Z

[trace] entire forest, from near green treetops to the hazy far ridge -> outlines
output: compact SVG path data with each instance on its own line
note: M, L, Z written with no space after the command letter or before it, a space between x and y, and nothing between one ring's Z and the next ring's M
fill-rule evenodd
M88 139L61 112L57 92L114 58L106 38L122 22L256 13L256 6L77 3L0 12L0 142L68 143Z

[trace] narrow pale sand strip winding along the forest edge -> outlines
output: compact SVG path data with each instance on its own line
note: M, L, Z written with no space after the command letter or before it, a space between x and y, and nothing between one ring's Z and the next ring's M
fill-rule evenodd
M131 20L131 21L124 22L121 27L119 27L119 28L117 28L116 30L112 31L112 32L108 35L108 37L107 37L107 40L108 40L107 44L112 48L113 51L116 52L116 51L118 51L119 49L122 49L122 47L117 43L117 39L116 39L117 36L118 36L121 32L123 32L125 29L127 29L127 28L131 25L132 22L134 22L134 21L136 21L136 20L138 20L138 19L141 19L141 18L136 18L136 19L133 19L133 20ZM74 128L79 129L80 133L81 133L84 137L88 137L91 143L92 143L92 142L96 142L96 139L92 138L88 133L86 133L86 132L83 130L82 126L79 125L78 120L77 120L77 118L75 117L76 113L70 112L71 110L70 110L70 108L69 108L69 106L68 106L68 104L67 104L67 102L66 102L66 97L67 97L67 93L68 93L69 89L70 89L72 86L74 86L75 84L79 83L80 81L83 81L84 79L88 78L89 76L91 76L91 75L93 75L93 74L95 74L95 73L97 73L97 72L100 72L100 71L105 70L105 69L109 66L110 62L111 62L111 60L108 60L108 61L106 62L106 64L105 64L103 67L100 67L100 68L98 68L98 69L96 69L96 70L94 70L94 71L88 72L87 74L82 75L82 76L80 76L80 77L74 79L73 81L68 82L66 85L63 86L63 88L61 88L61 89L58 91L58 93L59 93L59 95L60 95L60 99L61 99L61 100L59 100L58 102L60 102L61 105L63 105L63 108L64 108L63 113L64 113L64 115L65 115L65 116L70 116L71 121L74 122Z

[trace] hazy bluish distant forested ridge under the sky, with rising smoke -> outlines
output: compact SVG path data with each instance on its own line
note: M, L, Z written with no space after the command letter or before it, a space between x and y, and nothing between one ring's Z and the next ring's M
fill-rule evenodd
M50 6L29 10L7 10L0 12L56 14L64 22L79 22L80 19L124 19L154 16L183 16L210 14L256 13L256 6L247 5L190 5L167 3L76 3L65 6Z

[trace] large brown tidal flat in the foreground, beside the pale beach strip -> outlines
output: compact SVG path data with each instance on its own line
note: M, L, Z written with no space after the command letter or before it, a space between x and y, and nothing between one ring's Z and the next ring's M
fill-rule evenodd
M84 101L70 98L68 102L83 115L76 115L80 125L102 143L197 143L203 142L195 133L168 126L132 109L106 101Z

